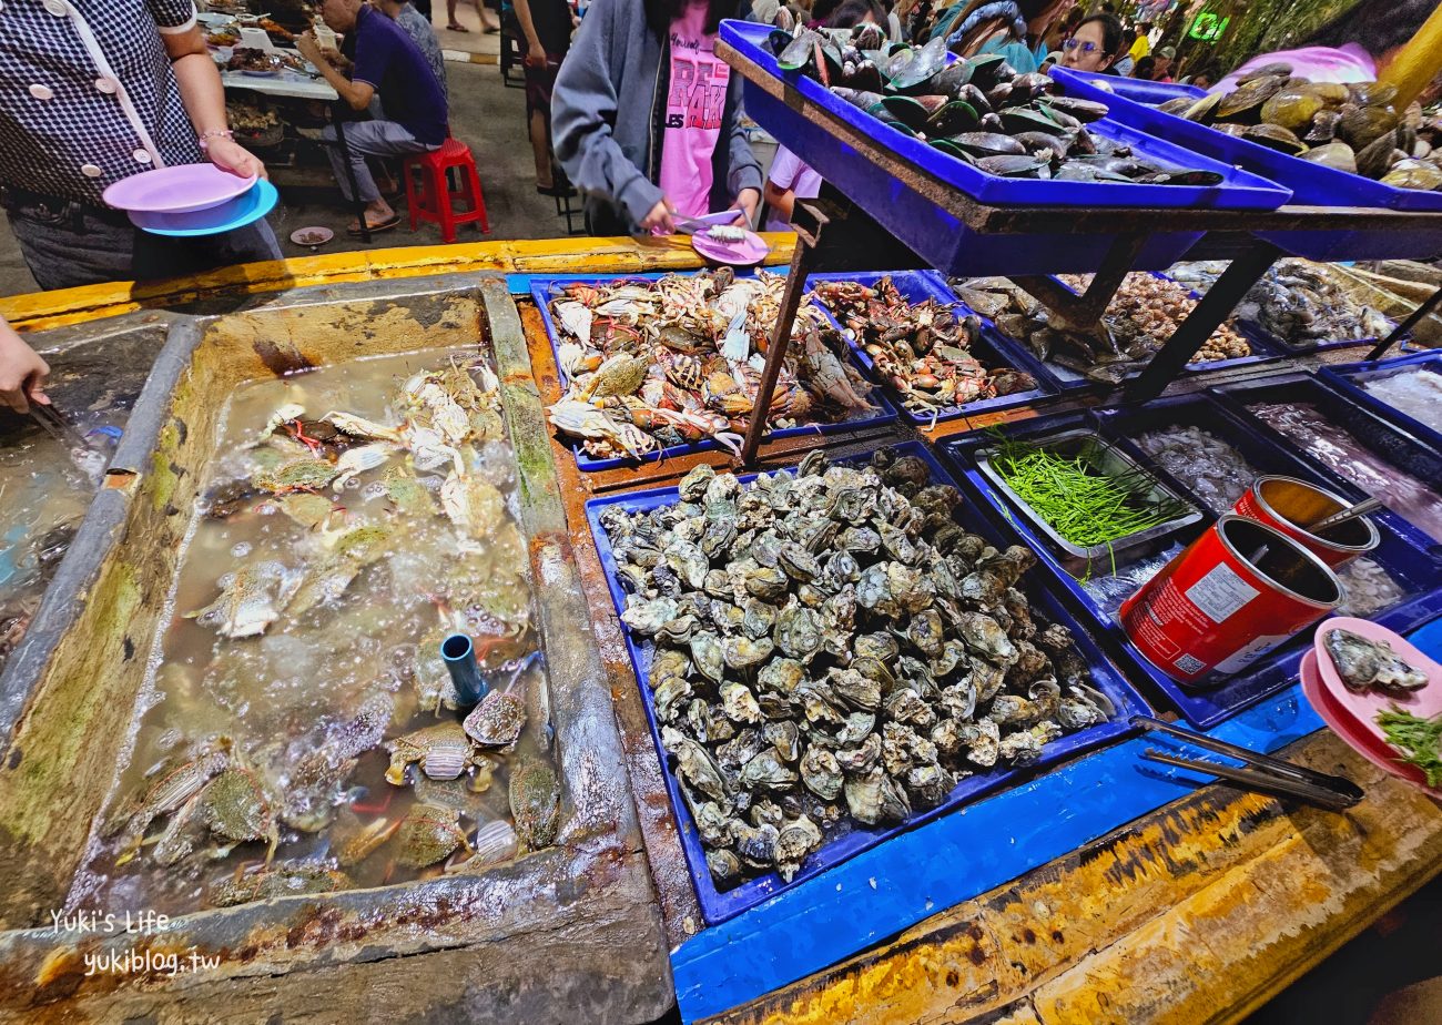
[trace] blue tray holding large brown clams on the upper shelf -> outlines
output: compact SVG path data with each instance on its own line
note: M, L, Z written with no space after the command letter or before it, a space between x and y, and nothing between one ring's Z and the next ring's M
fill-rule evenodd
M1056 68L1051 76L1067 95L1110 105L1110 117L1167 138L1213 160L1234 164L1292 190L1292 202L1304 206L1381 206L1393 210L1442 210L1442 192L1397 189L1361 174L1314 164L1299 157L1236 138L1195 121L1162 114L1155 107L1103 92L1092 82ZM1259 232L1276 247L1309 259L1386 259L1435 257L1442 252L1442 231L1374 232Z

